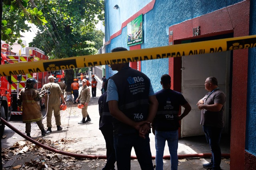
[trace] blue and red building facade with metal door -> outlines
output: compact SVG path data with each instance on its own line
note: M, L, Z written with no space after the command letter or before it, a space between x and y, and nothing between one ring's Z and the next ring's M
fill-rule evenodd
M142 25L135 22L140 16ZM130 35L131 25L142 31ZM142 41L130 46L128 41L141 33ZM106 53L115 47L147 49L255 34L256 0L105 0ZM155 92L161 89L162 74L172 77L172 89L182 92L192 106L182 120L181 137L203 135L196 102L206 94L204 80L215 76L227 96L224 133L230 134L230 169L254 167L256 48L193 54L130 65L150 78ZM106 66L106 77L114 73Z

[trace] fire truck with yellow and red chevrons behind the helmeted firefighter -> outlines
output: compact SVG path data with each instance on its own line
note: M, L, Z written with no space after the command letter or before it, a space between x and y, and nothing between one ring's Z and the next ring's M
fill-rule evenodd
M26 47L26 55L6 55L9 63L24 63L24 62L36 62L41 60L48 60L48 57L44 55L44 52L35 47ZM42 86L48 83L48 76L50 72L30 73L30 74L19 74L8 76L10 82L11 94L12 94L12 111L11 115L22 115L22 110L19 110L17 105L17 97L20 90L25 87L25 82L28 78L35 78L38 83L34 88L41 90ZM40 101L40 105L44 104L44 99Z

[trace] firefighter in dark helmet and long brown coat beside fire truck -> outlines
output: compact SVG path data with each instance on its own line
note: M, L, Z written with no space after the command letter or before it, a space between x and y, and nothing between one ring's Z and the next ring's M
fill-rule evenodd
M31 122L36 122L39 129L42 132L42 136L45 136L50 133L50 131L46 131L44 129L44 125L42 123L42 112L41 107L38 102L44 96L34 88L34 85L38 83L35 78L28 78L26 80L25 88L23 88L18 96L18 107L22 106L22 121L26 123L26 131L28 137L31 138Z

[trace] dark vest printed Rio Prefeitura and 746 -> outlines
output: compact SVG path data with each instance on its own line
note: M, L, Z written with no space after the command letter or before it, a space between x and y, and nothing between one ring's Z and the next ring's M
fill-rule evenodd
M133 121L148 117L149 78L130 67L123 68L111 77L118 91L118 108ZM114 133L138 133L136 129L113 119Z

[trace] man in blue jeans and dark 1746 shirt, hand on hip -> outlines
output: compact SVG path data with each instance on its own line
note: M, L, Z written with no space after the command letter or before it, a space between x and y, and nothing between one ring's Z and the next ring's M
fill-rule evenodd
M155 94L158 100L158 110L152 123L156 141L156 170L163 170L165 141L167 141L169 147L171 170L178 170L179 121L188 115L191 107L180 92L170 89L171 77L168 74L161 76L160 83L162 90ZM181 115L178 115L180 106L185 109Z

